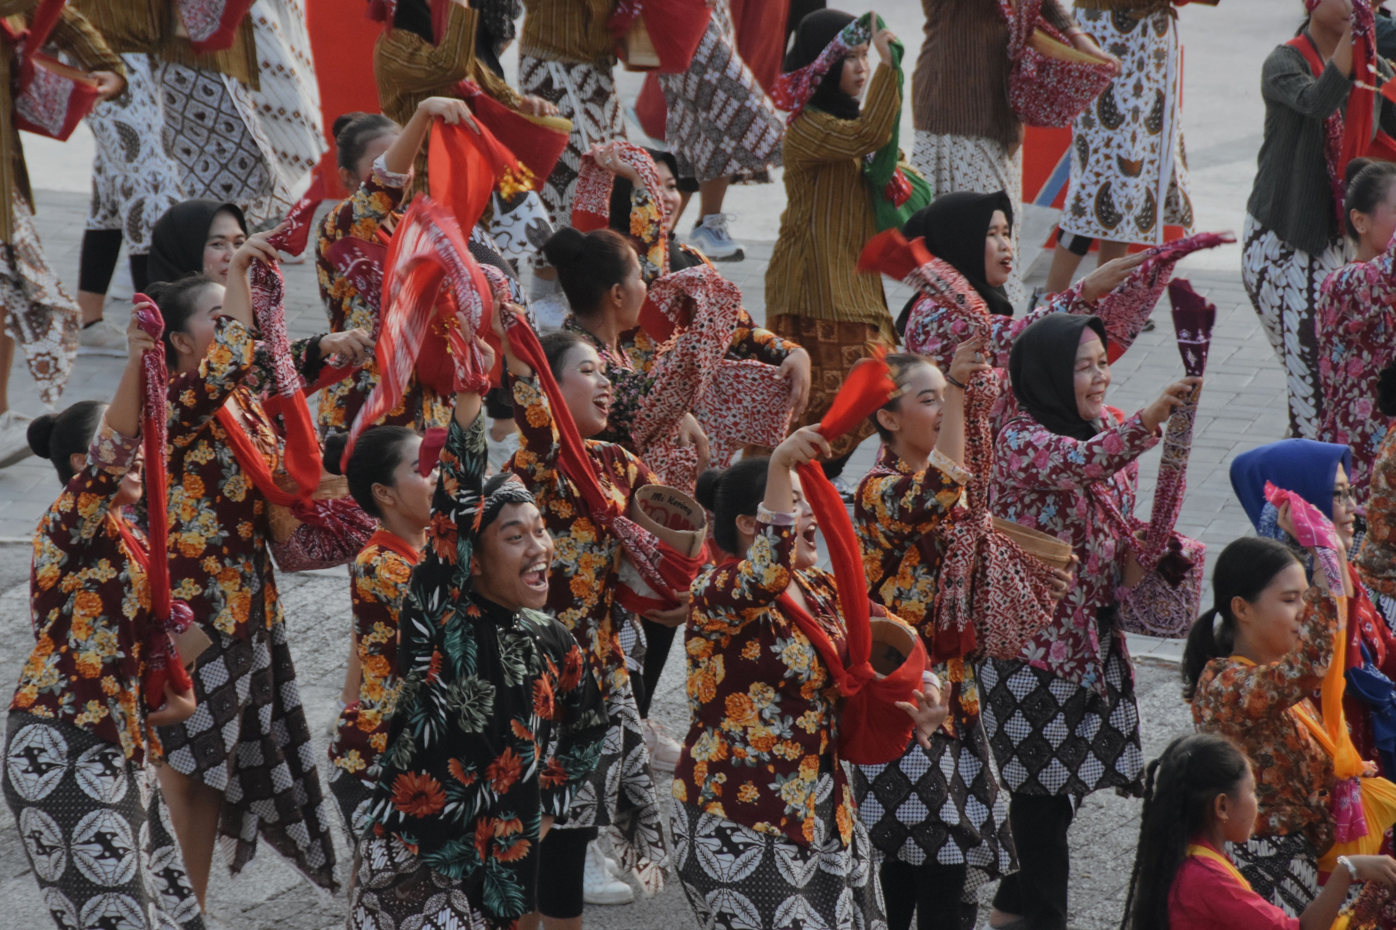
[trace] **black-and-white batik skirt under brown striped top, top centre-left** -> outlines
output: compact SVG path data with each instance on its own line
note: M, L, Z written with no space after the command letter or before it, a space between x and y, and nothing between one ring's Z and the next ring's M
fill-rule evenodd
M572 197L582 155L593 145L625 138L625 123L610 70L519 54L519 92L540 96L572 121L572 134L547 178L537 178L543 205L560 226L572 224Z

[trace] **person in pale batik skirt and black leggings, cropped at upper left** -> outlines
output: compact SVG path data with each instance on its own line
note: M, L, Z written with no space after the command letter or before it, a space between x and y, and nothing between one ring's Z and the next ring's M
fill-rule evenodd
M102 319L106 291L121 243L131 268L131 287L141 293L151 251L151 226L183 199L179 166L165 152L161 134L165 110L149 53L156 36L147 4L138 0L74 0L102 38L121 56L126 91L92 107L88 128L92 153L92 201L78 252L78 307L82 332L78 354L124 356L126 336Z

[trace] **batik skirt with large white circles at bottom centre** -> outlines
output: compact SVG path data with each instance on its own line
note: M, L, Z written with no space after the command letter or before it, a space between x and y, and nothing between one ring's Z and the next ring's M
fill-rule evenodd
M854 820L842 845L832 796L833 777L821 774L808 846L674 800L674 866L698 926L886 930L867 828Z

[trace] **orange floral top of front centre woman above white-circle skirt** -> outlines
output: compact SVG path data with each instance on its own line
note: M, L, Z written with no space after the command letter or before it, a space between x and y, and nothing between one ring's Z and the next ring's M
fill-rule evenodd
M833 823L836 841L847 846L857 807L836 754L833 682L776 604L792 576L810 613L846 654L833 576L796 572L794 514L758 509L747 558L709 569L691 588L684 650L692 722L674 799L801 845L835 839L825 835Z

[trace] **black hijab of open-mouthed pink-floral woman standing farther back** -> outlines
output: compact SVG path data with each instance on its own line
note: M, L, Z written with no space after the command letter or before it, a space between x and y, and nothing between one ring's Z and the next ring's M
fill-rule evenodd
M965 280L970 283L979 296L988 305L988 312L1000 317L1012 317L1013 305L1008 303L1008 291L1000 287L990 287L984 279L984 237L988 234L988 224L994 219L994 211L1004 211L1008 226L1013 226L1013 202L1004 191L993 194L973 194L970 191L956 191L941 194L930 206L912 213L906 220L902 234L912 240L920 236L926 240L926 248L931 255L949 262ZM896 332L906 333L906 321L912 315L912 307L920 300L914 294L906 301L906 307L896 318Z

